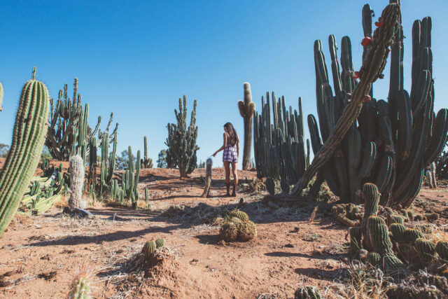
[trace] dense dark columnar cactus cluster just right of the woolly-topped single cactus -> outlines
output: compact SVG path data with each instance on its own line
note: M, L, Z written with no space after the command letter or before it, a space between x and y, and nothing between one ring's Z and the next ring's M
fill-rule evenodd
M305 152L302 99L299 98L299 111L290 106L286 111L285 97L279 98L269 92L261 99L261 113L255 111L253 118L253 147L255 165L259 179L265 177L272 186L273 179L281 179L283 192L289 192L290 184L304 173L309 164L309 141ZM272 105L272 118L271 118ZM271 123L272 119L272 123ZM267 188L274 193L273 188Z

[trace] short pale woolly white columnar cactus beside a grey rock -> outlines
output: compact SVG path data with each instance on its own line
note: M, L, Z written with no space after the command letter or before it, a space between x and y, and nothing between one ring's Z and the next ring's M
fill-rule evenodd
M73 155L70 158L69 165L70 172L70 197L69 207L73 211L76 208L81 207L81 199L83 197L84 186L84 162L83 158L79 155Z

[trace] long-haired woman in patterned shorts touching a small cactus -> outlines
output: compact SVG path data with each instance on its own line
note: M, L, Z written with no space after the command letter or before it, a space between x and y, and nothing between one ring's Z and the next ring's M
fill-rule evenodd
M225 186L227 188L226 196L230 196L230 164L232 164L232 174L233 174L233 192L232 196L237 196L237 186L238 186L238 157L239 157L239 138L235 128L231 123L226 123L224 125L223 134L224 143L221 148L216 151L213 156L224 150L223 153L223 163L225 169Z

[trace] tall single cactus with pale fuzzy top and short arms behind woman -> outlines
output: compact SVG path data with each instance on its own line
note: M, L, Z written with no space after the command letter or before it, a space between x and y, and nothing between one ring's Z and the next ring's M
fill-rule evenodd
M244 82L244 102L238 102L239 114L244 118L244 147L243 147L243 169L249 169L251 165L252 146L252 116L255 111L255 103L252 102L251 85Z

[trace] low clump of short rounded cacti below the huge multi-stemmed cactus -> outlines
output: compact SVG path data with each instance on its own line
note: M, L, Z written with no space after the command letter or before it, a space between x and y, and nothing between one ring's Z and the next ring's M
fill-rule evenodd
M396 214L390 208L382 209L379 213L380 194L377 186L372 183L365 183L363 194L363 222L360 228L349 229L351 256L384 270L403 267L405 263L427 265L437 255L441 260L445 260L447 242L434 244L425 238L426 234L430 235L432 232L430 225L418 223L414 228L407 228L405 221L415 219L415 214L406 209L402 210L402 215Z

